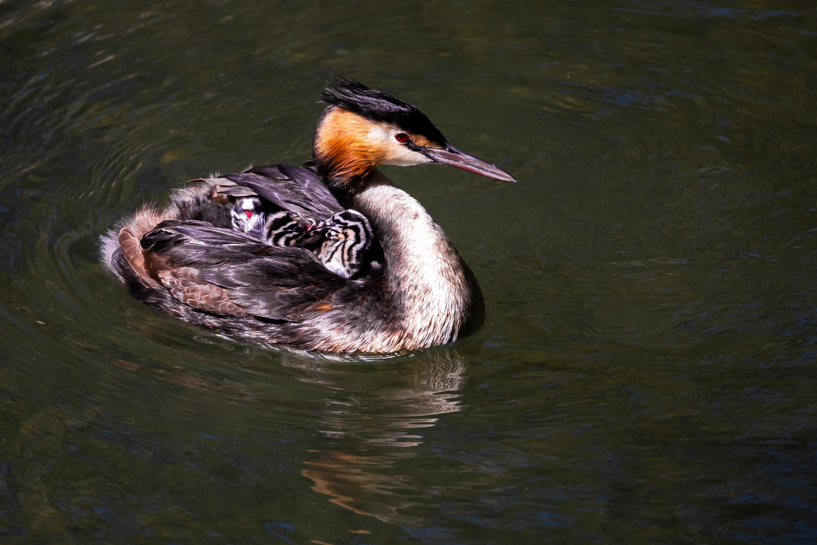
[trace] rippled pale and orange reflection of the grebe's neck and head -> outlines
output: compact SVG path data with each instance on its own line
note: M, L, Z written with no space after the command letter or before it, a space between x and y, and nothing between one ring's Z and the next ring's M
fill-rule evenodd
M462 409L458 391L466 366L456 351L437 350L384 373L337 372L319 362L292 358L284 364L308 371L302 380L335 393L319 419L319 432L342 440L340 449L310 449L301 475L315 492L359 515L398 525L422 519L401 511L426 503L428 494L400 471L400 460L415 458L422 444L417 430L435 426L444 413ZM384 386L385 385L385 386ZM339 391L344 399L339 399ZM397 450L386 450L387 448Z

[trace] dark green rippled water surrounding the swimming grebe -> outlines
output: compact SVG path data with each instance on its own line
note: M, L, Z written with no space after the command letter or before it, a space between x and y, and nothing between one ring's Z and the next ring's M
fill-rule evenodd
M0 542L815 543L814 6L0 1ZM308 159L333 72L519 179L386 169L480 333L293 355L105 274L139 204Z

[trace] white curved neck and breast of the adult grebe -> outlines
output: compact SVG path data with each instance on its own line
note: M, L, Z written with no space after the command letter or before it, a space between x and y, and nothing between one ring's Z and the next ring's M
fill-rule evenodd
M351 200L380 239L386 288L402 315L404 334L417 346L431 346L457 338L463 326L481 324L480 288L422 204L379 170Z

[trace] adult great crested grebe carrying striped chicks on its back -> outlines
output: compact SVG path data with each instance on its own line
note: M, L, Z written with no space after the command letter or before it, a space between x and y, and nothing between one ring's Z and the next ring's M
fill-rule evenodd
M105 265L141 302L254 342L386 353L473 333L484 320L473 273L425 208L377 166L440 163L514 179L454 148L394 96L338 78L321 101L328 106L310 166L191 181L167 207L145 206L103 235ZM265 243L248 223L233 228L231 212L249 210L242 199L251 199L252 216L291 212L324 233L334 222L344 235L324 235L311 251ZM333 251L346 257L334 261Z

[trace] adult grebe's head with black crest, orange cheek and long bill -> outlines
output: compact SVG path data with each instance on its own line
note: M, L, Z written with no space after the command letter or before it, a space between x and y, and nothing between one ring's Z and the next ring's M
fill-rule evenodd
M313 154L320 172L337 189L349 189L378 165L447 164L498 180L507 172L458 150L416 106L349 78L321 93L324 110Z

